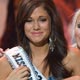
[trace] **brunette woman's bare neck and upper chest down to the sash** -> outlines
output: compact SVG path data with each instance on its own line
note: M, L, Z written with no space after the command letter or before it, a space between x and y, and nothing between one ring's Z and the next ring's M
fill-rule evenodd
M37 67L37 69L44 74L44 76L48 77L49 67L46 67L46 71L44 70L45 58L49 51L48 43L43 46L35 46L30 44L32 51L32 63Z

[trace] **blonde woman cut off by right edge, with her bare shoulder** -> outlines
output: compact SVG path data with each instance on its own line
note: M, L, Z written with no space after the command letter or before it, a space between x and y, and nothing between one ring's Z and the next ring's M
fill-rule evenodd
M77 10L72 18L71 24L72 45L68 54L68 67L73 69L73 75L80 75L80 10Z

